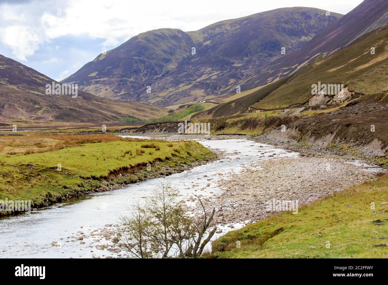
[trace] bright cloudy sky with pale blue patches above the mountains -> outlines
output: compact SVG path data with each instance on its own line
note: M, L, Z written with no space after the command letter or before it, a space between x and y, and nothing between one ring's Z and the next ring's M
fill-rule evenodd
M0 54L57 81L152 29L195 31L282 7L346 14L362 0L0 0Z

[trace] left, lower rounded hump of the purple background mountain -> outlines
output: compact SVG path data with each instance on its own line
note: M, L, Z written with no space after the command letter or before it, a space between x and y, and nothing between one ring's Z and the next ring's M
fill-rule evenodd
M101 97L139 101L137 92L173 70L194 46L179 29L148 31L100 54L63 82Z

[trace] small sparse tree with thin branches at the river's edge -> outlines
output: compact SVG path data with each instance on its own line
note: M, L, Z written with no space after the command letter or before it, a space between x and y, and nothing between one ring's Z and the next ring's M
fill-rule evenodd
M189 214L188 209L179 202L178 193L170 183L160 183L144 207L137 204L135 214L132 212L129 218L127 216L122 218L125 223L121 227L120 240L135 256L151 257L149 250L154 256L162 258L201 256L204 247L217 230L214 227L204 238L213 220L215 209L213 208L209 215L202 200L195 195L203 215L196 217Z

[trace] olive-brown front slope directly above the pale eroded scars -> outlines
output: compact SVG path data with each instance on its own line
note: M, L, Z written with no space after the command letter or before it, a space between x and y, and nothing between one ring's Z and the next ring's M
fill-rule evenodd
M331 57L313 62L253 107L273 109L303 104L312 97L312 85L344 84L355 93L388 91L388 26L375 30ZM375 54L371 54L371 47ZM333 94L334 95L334 94Z

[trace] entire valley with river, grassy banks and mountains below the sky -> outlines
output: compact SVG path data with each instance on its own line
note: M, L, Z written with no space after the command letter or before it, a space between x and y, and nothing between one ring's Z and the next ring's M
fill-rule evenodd
M0 258L388 257L388 2L354 6L105 38L61 81L0 55Z

